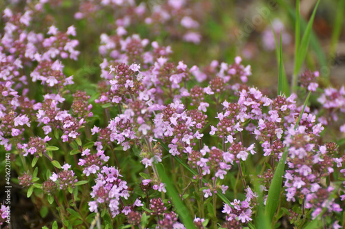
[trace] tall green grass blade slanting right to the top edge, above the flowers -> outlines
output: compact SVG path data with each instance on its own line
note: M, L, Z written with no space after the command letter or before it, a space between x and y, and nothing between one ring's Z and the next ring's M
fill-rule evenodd
M315 13L317 10L317 6L319 6L320 0L317 1L315 8L313 10L313 14L311 15L311 19L309 19L308 25L306 26L306 30L304 31L301 44L298 48L298 51L296 53L295 58L295 68L293 70L293 84L292 84L292 90L293 92L296 91L297 88L297 76L299 74L299 70L302 68L302 64L304 62L304 59L306 59L306 52L308 50L309 41L311 40L311 31L313 29L313 21L315 18ZM297 15L296 15L297 17ZM297 21L297 19L296 19Z

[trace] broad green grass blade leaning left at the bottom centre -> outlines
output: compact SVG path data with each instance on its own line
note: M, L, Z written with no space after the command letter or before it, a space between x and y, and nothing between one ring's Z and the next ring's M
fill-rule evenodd
M184 202L181 201L177 191L175 190L174 185L171 183L171 179L169 179L168 175L164 170L164 167L161 163L156 164L157 172L159 175L159 179L166 185L166 192L168 196L171 198L172 204L175 206L179 217L181 217L182 222L186 228L196 229L193 219L190 217L188 208L184 205Z

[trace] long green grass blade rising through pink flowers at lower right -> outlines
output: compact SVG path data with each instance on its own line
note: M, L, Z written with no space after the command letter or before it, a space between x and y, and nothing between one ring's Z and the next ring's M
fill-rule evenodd
M309 97L311 96L311 92L308 93L306 100L304 101L304 106L299 114L297 122L295 124L295 129L297 128L299 121L301 121L302 115L304 110L306 109L306 104L308 103ZM268 190L268 197L266 201L266 208L265 212L268 216L268 221L272 221L273 216L277 210L279 204L279 196L282 190L282 182L283 182L283 175L285 171L285 161L286 157L288 156L288 147L284 149L282 158L279 160L278 166L275 169L275 174L273 175L272 182L270 183L270 189Z

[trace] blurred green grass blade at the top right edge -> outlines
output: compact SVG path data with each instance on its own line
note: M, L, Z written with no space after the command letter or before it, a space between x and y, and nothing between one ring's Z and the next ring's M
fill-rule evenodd
M339 41L340 32L342 32L342 24L344 21L345 13L345 0L339 0L337 5L337 12L335 16L335 23L331 36L331 46L329 48L328 57L333 58L335 56L335 49L337 48L337 43Z

